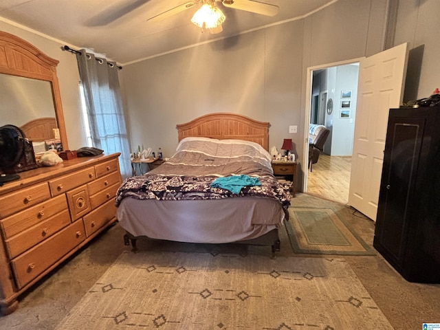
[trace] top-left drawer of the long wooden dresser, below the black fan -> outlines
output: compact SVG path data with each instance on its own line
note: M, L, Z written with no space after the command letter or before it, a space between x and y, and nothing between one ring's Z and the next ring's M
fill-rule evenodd
M50 199L47 183L36 184L0 197L0 219Z

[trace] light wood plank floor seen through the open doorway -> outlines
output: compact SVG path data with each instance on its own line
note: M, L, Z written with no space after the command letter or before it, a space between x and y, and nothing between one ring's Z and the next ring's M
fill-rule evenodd
M321 154L309 170L307 193L346 204L349 201L351 156Z

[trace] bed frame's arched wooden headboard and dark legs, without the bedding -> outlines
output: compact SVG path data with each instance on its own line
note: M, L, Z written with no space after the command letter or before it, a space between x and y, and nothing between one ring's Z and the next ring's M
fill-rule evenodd
M179 142L185 137L211 137L219 140L235 139L256 142L263 146L265 150L269 150L269 127L269 122L259 122L236 113L210 113L176 126L179 133ZM137 238L138 236L133 236L129 232L124 235L125 245L130 245L131 242L133 252L137 252ZM146 238L150 239L149 237ZM278 229L271 230L256 239L233 243L270 246L272 248L272 258L275 258L275 252L280 251Z

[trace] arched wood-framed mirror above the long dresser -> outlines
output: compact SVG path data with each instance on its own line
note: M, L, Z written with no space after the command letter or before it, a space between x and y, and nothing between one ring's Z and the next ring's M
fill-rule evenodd
M0 31L0 126L19 126L32 141L57 138L67 150L56 65L34 45Z

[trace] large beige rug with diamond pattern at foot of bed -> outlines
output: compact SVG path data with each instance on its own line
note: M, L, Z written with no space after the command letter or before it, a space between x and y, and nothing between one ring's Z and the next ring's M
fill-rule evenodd
M344 259L124 252L62 329L393 329Z

